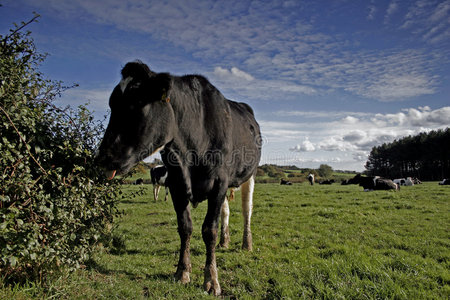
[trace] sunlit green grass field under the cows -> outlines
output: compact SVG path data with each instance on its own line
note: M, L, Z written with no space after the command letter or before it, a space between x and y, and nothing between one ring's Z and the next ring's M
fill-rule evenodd
M0 298L203 299L206 203L192 210L191 283L173 280L179 238L171 202L151 185L127 186L115 248L85 270L45 288L3 288ZM160 198L161 195L160 195ZM350 185L257 184L253 252L242 251L240 197L230 204L229 249L217 254L226 299L448 299L450 187L436 182L401 191Z

